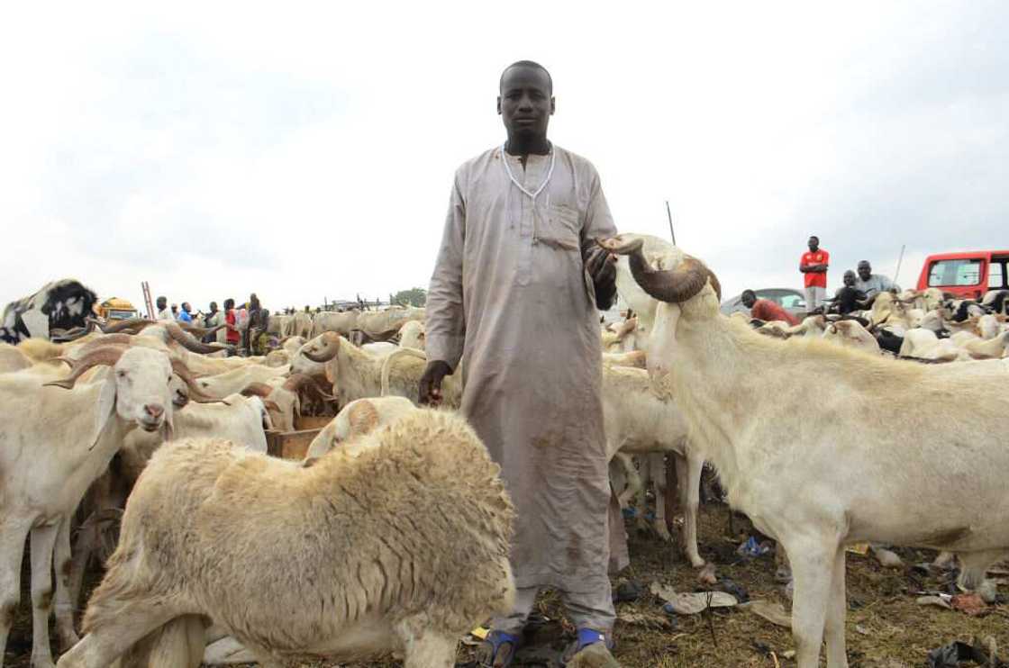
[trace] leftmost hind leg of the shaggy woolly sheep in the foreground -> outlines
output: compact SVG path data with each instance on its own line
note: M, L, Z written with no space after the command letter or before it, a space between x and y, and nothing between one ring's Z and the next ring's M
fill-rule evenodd
M107 576L106 576L107 577ZM89 609L92 631L60 657L58 668L105 668L140 639L185 614L164 600L108 598L101 609Z

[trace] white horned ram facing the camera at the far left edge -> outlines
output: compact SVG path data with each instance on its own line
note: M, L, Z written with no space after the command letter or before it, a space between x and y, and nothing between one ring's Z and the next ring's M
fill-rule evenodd
M33 665L52 665L53 600L61 644L77 640L65 570L75 509L127 434L171 431L173 424L173 368L163 352L102 346L72 363L66 378L44 384L31 369L0 376L0 487L6 499L0 545L9 549L8 563L19 564L31 533ZM100 367L108 367L104 377L81 382ZM0 584L0 604L8 609L20 595L18 568L12 572ZM12 622L11 616L0 616L0 641L6 641Z

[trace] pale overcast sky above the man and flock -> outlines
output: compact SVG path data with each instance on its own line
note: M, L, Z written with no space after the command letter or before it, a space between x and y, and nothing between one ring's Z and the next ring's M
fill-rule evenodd
M1005 2L140 4L4 10L0 306L61 276L195 308L426 287L521 59L618 227L668 236L668 199L726 296L801 288L810 233L830 289L905 243L904 286L1009 246Z

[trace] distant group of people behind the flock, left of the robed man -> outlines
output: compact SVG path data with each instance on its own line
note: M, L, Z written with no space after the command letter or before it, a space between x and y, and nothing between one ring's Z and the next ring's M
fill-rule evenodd
M158 297L154 305L154 317L157 320L176 320L199 327L224 328L224 342L235 346L240 354L262 355L268 349L269 336L266 330L269 326L269 311L262 308L255 293L249 295L247 302L235 305L235 300L224 300L224 308L218 309L217 302L211 302L209 310L193 312L189 302L183 302L169 307L166 297ZM204 342L216 339L214 333L208 333Z

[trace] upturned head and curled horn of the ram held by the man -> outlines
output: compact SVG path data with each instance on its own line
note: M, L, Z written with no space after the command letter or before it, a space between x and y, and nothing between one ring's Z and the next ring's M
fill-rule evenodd
M652 298L669 304L684 304L711 287L716 300L721 299L718 279L696 257L670 246L669 268L653 268L645 257L645 238L638 234L619 234L597 243L611 253L628 255L631 272L642 290Z

